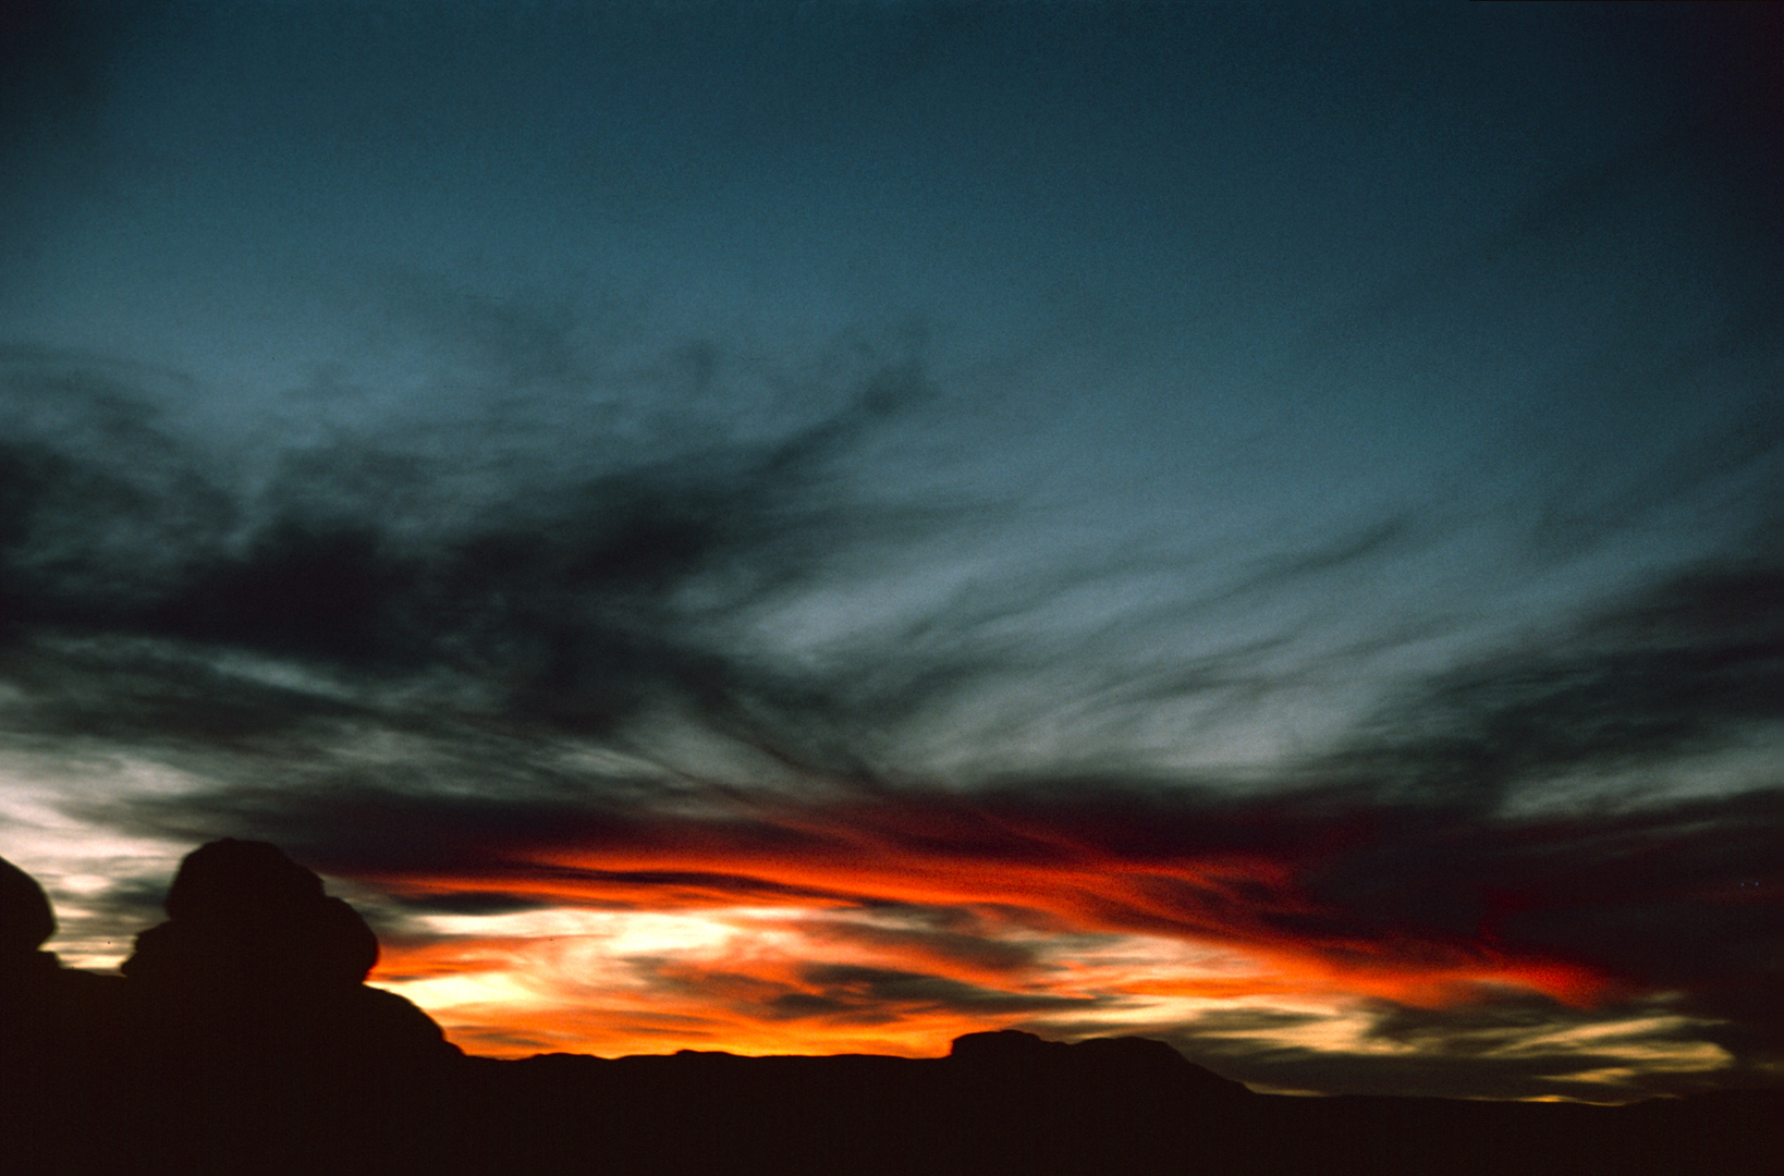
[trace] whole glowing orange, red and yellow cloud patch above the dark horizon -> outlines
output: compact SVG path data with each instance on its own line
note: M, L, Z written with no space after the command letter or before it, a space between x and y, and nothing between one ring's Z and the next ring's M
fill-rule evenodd
M1486 928L1390 924L1318 901L1306 878L1358 835L1342 824L1270 830L1265 851L1197 846L1151 833L1144 814L1117 816L1063 823L935 798L755 807L512 844L455 873L362 880L410 898L500 892L585 910L749 912L724 946L628 960L624 980L560 974L557 996L537 980L551 965L524 937L389 953L380 967L389 981L533 976L530 1005L471 1001L442 1017L480 1053L922 1055L1074 1001L1320 996L1440 1008L1525 990L1590 1006L1618 990L1584 964L1513 949ZM778 946L764 948L769 935ZM1242 967L1088 967L1049 946L1086 935L1210 946L1236 953Z

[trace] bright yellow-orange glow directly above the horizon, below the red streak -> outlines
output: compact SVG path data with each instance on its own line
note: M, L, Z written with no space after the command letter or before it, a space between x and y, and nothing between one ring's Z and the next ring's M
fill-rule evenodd
M1004 935L995 942L1020 949L1022 964L999 971L995 960L913 957L928 942L924 928L878 912L533 910L434 915L425 928L450 939L426 949L387 953L376 981L426 1008L455 1042L475 1053L566 1049L612 1056L726 1049L937 1056L960 1033L1004 1024L1045 1028L1044 1005L1029 1012L967 1012L924 999L904 1005L888 999L883 1012L874 999L863 999L835 1015L778 1017L776 998L835 996L810 980L806 969L814 962L874 974L951 976L988 996L1070 1001L1056 1015L1079 1035L1145 1033L1213 1010L1281 1012L1293 1005L1318 1021L1274 1031L1270 1040L1308 1048L1367 1044L1363 1017L1345 1014L1333 999L1302 994L1284 1001L1258 960L1229 948L1156 935L1049 937L1001 928ZM1197 983L1222 990L1197 994ZM1247 996L1247 985L1272 992Z

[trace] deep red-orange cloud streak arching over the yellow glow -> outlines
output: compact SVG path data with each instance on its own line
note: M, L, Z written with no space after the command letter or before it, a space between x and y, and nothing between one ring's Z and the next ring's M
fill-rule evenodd
M657 814L587 839L510 844L464 871L366 880L417 898L500 890L594 908L896 905L979 912L1054 933L1144 933L1226 946L1260 965L1251 978L1186 978L1181 987L1136 978L1120 989L1129 994L1349 992L1438 1006L1470 999L1483 987L1509 987L1591 1005L1618 987L1586 964L1509 946L1484 924L1461 933L1322 901L1308 878L1368 839L1358 823L1295 817L1195 826L1176 817L1176 828L1160 828L1151 816L1117 808L1060 814L935 796ZM789 926L810 958L846 948L874 967L990 990L1035 990L1040 983L1033 962L1008 937L983 928L946 935L808 917ZM439 971L462 971L500 957L501 948L467 946L473 962L453 957L451 948L428 951L439 951ZM434 965L407 953L385 973L392 967ZM685 974L657 980L678 981L683 992L699 989L710 1008L792 1001L805 992L796 962L746 967L708 960L698 971L683 967ZM878 999L887 998L881 992Z

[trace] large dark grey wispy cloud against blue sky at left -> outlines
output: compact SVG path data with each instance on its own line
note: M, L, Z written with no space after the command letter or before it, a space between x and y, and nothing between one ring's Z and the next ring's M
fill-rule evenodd
M30 683L20 728L159 742L416 723L405 689L562 732L612 732L649 703L740 725L797 691L726 648L733 616L924 525L851 505L837 469L865 423L922 396L910 366L869 371L840 412L769 441L510 482L494 501L455 501L450 460L341 441L285 453L248 493L128 377L32 353L5 368L0 600L11 676ZM232 657L293 666L309 689Z

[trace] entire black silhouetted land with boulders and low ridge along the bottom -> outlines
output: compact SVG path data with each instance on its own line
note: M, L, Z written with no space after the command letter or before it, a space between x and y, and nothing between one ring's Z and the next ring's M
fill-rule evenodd
M1784 1094L1631 1106L1261 1096L1161 1042L947 1058L467 1058L257 842L193 853L125 978L55 965L7 867L0 1172L1518 1174L1780 1171ZM41 905L41 910L39 910Z

